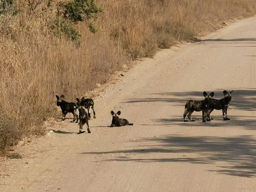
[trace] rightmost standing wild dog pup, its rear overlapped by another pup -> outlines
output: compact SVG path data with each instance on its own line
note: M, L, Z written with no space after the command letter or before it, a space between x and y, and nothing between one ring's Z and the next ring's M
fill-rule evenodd
M207 120L213 120L213 118L210 117L211 112L216 109L216 110L221 110L222 109L222 116L223 116L223 120L230 120L230 118L228 118L228 106L230 104L231 98L232 98L232 92L234 90L232 90L230 93L228 93L226 90L223 91L224 94L224 98L222 99L212 99L212 104L211 106L208 108L207 110Z

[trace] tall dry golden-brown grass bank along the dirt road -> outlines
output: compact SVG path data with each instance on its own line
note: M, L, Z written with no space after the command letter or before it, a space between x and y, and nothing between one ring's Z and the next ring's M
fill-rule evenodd
M0 148L56 114L55 94L74 101L131 59L256 13L254 0L98 0L97 34L85 24L80 47L50 33L50 16L0 16ZM60 116L60 114L58 114ZM35 128L36 127L36 128Z

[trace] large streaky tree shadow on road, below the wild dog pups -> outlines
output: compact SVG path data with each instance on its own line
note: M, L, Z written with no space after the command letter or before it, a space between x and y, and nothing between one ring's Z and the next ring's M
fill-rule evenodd
M119 154L104 161L218 163L220 166L208 171L241 177L256 176L256 140L252 136L162 136L129 142L136 142L133 146L138 146L137 149L83 154Z

